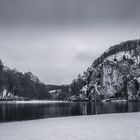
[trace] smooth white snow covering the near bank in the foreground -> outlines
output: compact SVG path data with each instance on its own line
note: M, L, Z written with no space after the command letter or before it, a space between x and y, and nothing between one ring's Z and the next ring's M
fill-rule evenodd
M140 140L140 113L1 123L0 140Z

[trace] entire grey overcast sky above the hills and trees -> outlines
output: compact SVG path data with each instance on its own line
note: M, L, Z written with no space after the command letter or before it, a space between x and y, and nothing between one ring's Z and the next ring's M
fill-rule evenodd
M0 58L68 84L109 46L140 38L140 0L0 0Z

